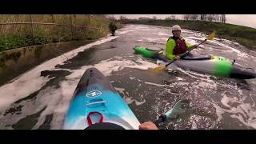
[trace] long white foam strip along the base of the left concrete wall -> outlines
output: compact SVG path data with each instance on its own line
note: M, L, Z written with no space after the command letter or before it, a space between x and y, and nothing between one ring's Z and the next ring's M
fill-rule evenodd
M6 109L7 106L10 106L11 103L17 101L18 99L25 98L26 96L34 93L34 91L40 90L42 86L46 84L46 82L50 81L50 78L45 78L40 76L40 72L43 70L54 70L54 66L58 64L63 64L66 59L63 59L63 55L65 58L73 58L78 54L78 52L89 49L91 46L96 46L102 44L104 42L109 42L112 39L118 37L111 38L101 38L97 42L92 42L86 46L81 46L78 49L71 50L65 54L62 54L56 58L50 59L47 62L43 62L42 64L36 66L33 70L26 72L16 78L14 82L6 84L0 87L0 110Z

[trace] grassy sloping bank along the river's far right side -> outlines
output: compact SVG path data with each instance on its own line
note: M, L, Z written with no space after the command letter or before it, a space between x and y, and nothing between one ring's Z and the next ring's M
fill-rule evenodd
M246 46L250 50L256 50L256 29L247 26L238 26L220 22L183 21L183 20L124 20L122 23L147 24L156 26L179 25L184 29L197 30L210 34L216 30L216 37L226 38Z

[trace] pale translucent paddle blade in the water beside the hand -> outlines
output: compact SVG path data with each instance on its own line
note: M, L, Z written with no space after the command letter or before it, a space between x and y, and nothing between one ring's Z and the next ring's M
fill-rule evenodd
M183 99L179 100L171 110L168 110L166 114L162 114L159 118L154 122L154 124L159 127L162 122L166 122L170 119L177 118L178 114L189 104L188 100Z

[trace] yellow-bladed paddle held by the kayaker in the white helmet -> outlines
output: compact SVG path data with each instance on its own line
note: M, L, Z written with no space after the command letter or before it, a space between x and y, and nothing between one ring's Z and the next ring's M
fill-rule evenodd
M206 42L207 40L213 40L213 39L214 39L214 36L215 36L215 31L212 32L211 34L209 34L208 37L207 37L204 41L202 41L202 42L200 42L200 43L198 44L198 46L201 45L202 43ZM198 46L196 46L196 47L198 47ZM196 48L196 47L194 47L194 48ZM194 50L194 48L192 48L192 49L190 49L190 50L187 50L186 53L184 53L184 54L180 54L180 55L179 55L180 58L182 58L182 57L185 56L186 54L189 54L191 50ZM177 60L178 60L178 59L175 59L174 61L167 63L166 66L158 66L158 67L155 67L153 70L154 70L154 71L156 71L156 70L166 70L166 67L167 67L167 66L169 66L169 65L172 64L173 62L176 62Z

